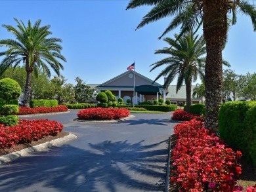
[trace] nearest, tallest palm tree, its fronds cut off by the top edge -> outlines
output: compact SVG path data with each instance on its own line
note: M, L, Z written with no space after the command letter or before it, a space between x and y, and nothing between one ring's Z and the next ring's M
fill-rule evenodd
M207 52L205 61L205 126L217 132L223 83L222 50L226 42L228 27L236 24L236 12L240 11L251 17L253 29L256 31L255 7L246 0L131 0L127 9L143 5L151 5L153 8L142 18L137 29L161 18L174 16L160 38L178 26L181 26L181 35L190 29L198 31L200 26L203 26Z

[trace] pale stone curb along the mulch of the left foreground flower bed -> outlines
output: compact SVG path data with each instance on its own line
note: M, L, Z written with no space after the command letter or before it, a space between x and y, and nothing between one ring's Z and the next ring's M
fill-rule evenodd
M14 161L15 159L20 158L20 157L26 157L26 156L30 155L30 153L33 153L33 152L45 151L45 149L47 149L51 146L58 146L64 142L74 140L75 138L77 138L77 136L70 133L70 134L68 134L68 136L64 136L63 138L58 138L58 139L52 140L51 142L45 142L43 144L35 145L33 147L28 147L26 149L12 152L7 155L2 155L2 156L0 156L0 164L9 163L11 161Z

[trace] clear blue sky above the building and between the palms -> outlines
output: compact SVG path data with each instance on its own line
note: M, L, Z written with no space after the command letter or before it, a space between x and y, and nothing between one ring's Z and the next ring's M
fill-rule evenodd
M18 18L24 23L41 19L42 25L51 25L52 37L63 41L62 54L67 62L62 75L68 83L75 83L75 77L85 83L104 83L127 71L134 61L137 72L154 80L163 68L150 72L150 65L165 58L154 51L167 47L158 37L171 19L165 18L135 31L150 7L125 10L128 3L128 0L0 1L0 24L16 26L13 18ZM179 29L165 37L173 37L174 33L179 33ZM0 26L0 39L9 38L11 33ZM238 23L228 32L223 51L230 69L238 74L254 73L255 45L256 32L251 21L240 14ZM163 78L157 82L163 84Z

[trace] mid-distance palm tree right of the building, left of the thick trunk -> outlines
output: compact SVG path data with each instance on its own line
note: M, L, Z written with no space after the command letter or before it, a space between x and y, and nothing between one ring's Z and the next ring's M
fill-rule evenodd
M177 38L179 35L175 35ZM192 32L184 34L177 41L171 38L163 39L169 44L169 47L165 47L156 50L155 54L168 54L169 57L164 58L154 64L152 64L152 70L157 67L167 65L165 69L161 71L154 81L157 81L160 77L166 76L164 87L170 85L175 77L178 76L177 89L179 91L183 83L186 85L186 111L190 111L191 106L191 89L192 81L195 82L198 75L203 79L204 75L204 62L205 58L205 42L203 36L198 38L198 35L194 36Z

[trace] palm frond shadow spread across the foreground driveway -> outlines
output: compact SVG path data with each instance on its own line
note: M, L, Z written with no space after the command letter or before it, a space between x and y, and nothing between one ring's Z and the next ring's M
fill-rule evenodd
M63 145L0 166L0 191L163 191L167 140Z

